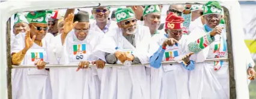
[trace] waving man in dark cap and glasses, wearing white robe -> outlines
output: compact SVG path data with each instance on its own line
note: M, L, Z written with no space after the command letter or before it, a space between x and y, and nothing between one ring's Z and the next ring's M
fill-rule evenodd
M75 23L73 23L75 22ZM52 60L50 64L78 64L76 68L51 69L53 98L55 99L98 99L100 97L100 81L96 64L102 68L105 62L90 57L91 52L99 44L103 33L90 29L89 14L79 11L69 14L65 19L63 32L55 37ZM74 29L74 30L73 30ZM79 70L82 69L82 70Z

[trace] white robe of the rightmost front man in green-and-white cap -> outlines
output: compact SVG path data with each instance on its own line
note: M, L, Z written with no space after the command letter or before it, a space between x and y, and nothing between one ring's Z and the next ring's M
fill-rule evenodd
M196 27L187 37L186 45L197 41L206 33L204 27ZM219 55L218 51L214 51L215 45L221 44L220 52L224 48L222 37L226 37L226 33L222 31L221 34L223 36L216 35L215 41L212 44L198 52L198 54L195 54L197 55L193 59L195 61L195 69L190 72L189 76L189 93L192 99L229 98L230 96L228 62L224 61L219 70L214 70L214 62L203 62L206 58L215 58L215 55ZM227 50L224 53L223 56L227 57Z

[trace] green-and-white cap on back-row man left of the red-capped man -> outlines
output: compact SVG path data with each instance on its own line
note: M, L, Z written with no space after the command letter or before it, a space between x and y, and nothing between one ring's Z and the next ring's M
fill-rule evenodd
M143 11L143 16L146 16L147 14L151 14L151 13L161 14L161 10L159 8L159 5L146 5L145 9Z

